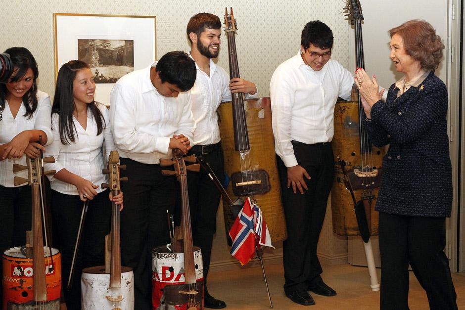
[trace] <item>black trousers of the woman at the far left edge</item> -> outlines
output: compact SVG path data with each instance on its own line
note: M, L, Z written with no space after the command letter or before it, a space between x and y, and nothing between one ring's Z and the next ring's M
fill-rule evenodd
M26 230L31 230L31 186L0 185L0 250L26 245ZM0 305L2 288L0 285Z

